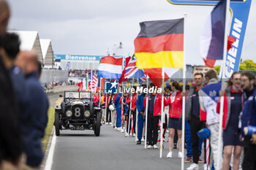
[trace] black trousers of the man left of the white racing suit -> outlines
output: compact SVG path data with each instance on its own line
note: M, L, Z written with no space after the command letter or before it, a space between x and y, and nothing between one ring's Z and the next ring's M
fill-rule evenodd
M199 159L199 150L198 150L198 144L199 144L199 137L197 136L197 132L200 131L202 128L206 128L206 122L200 121L199 117L196 117L192 115L191 120L189 121L190 125L190 133L192 137L192 155L193 155L193 162L198 163ZM206 140L203 140L204 142L204 153L205 153L205 160L206 163ZM211 155L211 151L210 151Z

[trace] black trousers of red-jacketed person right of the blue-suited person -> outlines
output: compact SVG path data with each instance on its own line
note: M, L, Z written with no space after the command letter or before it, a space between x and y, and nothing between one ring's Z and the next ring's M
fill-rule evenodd
M148 144L154 145L157 144L158 138L158 122L159 117L154 116L152 112L148 112Z

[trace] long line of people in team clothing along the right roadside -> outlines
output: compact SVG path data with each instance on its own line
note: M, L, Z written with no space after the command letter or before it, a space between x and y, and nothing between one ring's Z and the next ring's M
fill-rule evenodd
M206 84L203 84L204 79ZM178 158L181 158L181 141L182 141L182 98L186 98L185 103L185 128L186 128L186 146L187 159L185 162L190 163L187 170L199 169L198 163L203 163L203 169L210 169L208 158L212 158L213 169L228 170L230 167L234 170L256 169L255 150L256 134L251 130L256 128L256 85L255 75L251 72L234 72L227 82L227 88L221 90L222 83L217 79L217 73L211 69L204 75L197 72L194 75L192 85L186 85L186 93L181 92L181 86L178 82L172 82L165 88L164 92L164 109L161 111L162 93L132 93L131 96L121 87L119 93L109 101L114 102L116 109L117 131L121 131L122 123L126 123L125 136L137 136L136 144L143 142L143 128L147 132L147 149L157 149L157 140L159 136L165 136L168 131L168 150L167 158L173 158L173 148L175 134L178 136ZM141 87L146 88L143 83ZM149 88L157 88L150 84ZM136 88L135 88L136 90ZM224 96L224 114L223 114L223 134L221 135L221 145L219 146L219 112L220 96ZM148 107L146 101L148 98ZM108 105L110 106L110 105ZM121 107L124 107L124 120L121 118ZM131 115L129 115L131 109ZM148 111L148 125L145 127L146 109ZM111 111L112 113L114 110ZM159 134L161 124L161 113L163 112L163 134ZM138 121L136 118L138 117ZM112 120L113 122L113 120ZM138 123L136 127L136 123ZM123 124L124 125L124 124ZM208 129L209 136L200 136L200 131ZM244 132L244 129L249 129ZM130 133L130 134L129 134ZM206 148L206 138L209 141L210 150ZM165 138L163 138L165 140ZM204 160L200 159L202 153ZM222 148L222 152L218 149ZM244 158L241 158L244 148ZM207 154L206 154L206 149ZM209 156L212 154L212 157ZM217 160L220 158L220 167L217 167ZM231 159L232 158L232 159ZM242 163L241 160L243 159ZM208 164L207 164L208 163ZM231 165L231 166L230 166Z

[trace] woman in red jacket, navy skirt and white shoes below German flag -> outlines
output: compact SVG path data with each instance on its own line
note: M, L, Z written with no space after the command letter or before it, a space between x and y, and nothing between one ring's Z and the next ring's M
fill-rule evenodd
M173 156L173 137L175 130L178 131L178 158L181 158L181 138L182 138L182 121L181 121L181 112L182 112L182 96L181 96L181 86L178 85L178 82L173 82L171 86L173 94L169 98L165 98L165 105L170 105L169 109L169 152L167 158L172 158Z

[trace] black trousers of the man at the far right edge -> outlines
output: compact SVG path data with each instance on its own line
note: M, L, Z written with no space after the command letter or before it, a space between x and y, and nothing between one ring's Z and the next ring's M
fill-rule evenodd
M252 144L249 138L244 139L243 170L256 169L256 144Z

